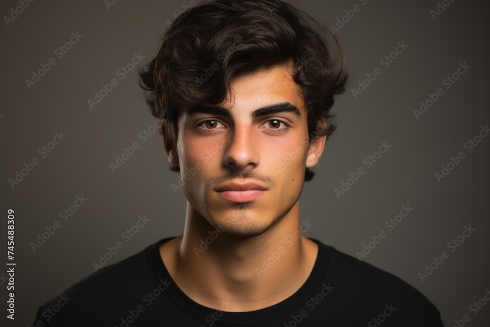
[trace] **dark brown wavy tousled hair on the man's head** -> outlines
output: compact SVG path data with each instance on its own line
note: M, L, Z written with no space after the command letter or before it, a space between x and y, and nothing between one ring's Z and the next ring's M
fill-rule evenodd
M293 63L293 78L308 110L309 142L337 129L330 109L334 96L345 92L347 70L333 31L280 0L191 4L168 23L158 54L139 71L151 112L162 120L173 142L177 111L184 101L220 103L234 78L287 63ZM211 69L213 74L203 74ZM305 181L313 175L306 168Z

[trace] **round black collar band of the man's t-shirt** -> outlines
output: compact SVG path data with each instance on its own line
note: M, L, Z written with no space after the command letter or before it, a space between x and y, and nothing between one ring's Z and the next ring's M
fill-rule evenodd
M207 324L206 318L209 320L210 315L214 314L217 317L218 314L222 315L217 321L214 321L217 326L231 325L231 326L249 326L269 323L274 320L288 317L293 314L295 310L303 306L308 300L310 300L315 293L322 287L325 282L325 276L330 266L331 248L321 243L316 238L310 238L318 244L318 254L313 266L313 270L310 276L306 279L304 284L289 298L282 302L273 304L269 307L262 308L254 311L247 312L227 312L217 309L213 309L204 305L201 305L191 298L189 298L174 282L167 270L161 256L159 247L161 244L168 242L177 236L164 238L150 247L148 247L148 262L150 268L156 278L157 283L161 283L161 280L167 278L170 281L170 285L165 291L165 295L169 301L173 302L180 310L187 315L196 317Z

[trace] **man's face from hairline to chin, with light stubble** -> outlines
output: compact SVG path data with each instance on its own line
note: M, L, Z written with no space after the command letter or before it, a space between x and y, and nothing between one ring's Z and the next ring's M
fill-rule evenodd
M187 103L179 111L173 164L198 214L225 233L251 237L298 201L307 158L308 167L316 165L324 138L310 158L307 110L288 66L236 78L231 90L220 104Z

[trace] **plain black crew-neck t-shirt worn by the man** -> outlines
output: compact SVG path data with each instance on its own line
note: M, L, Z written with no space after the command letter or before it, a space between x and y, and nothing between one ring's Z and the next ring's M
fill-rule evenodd
M43 304L32 326L443 326L415 288L374 266L319 245L312 273L288 299L249 312L194 302L173 281L159 252L168 237L106 266ZM267 266L265 266L267 268Z

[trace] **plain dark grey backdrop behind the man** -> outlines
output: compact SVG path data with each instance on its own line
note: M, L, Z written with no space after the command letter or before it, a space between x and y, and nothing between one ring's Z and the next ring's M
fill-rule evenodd
M488 326L490 305L475 316L468 306L490 287L490 137L469 153L463 148L480 126L490 123L488 2L454 1L435 20L429 11L437 1L293 3L333 23L354 4L361 8L338 32L352 85L334 106L339 129L327 141L313 169L317 175L305 183L301 195L300 219L314 224L305 236L354 256L371 235L387 231L384 223L403 204L410 204L414 210L387 231L365 261L421 291L440 309L447 326L465 314L471 317L466 326ZM2 1L0 13L10 15L18 5ZM91 274L98 255L121 241L139 215L150 221L130 242L123 242L109 263L182 233L185 198L181 190L172 190L179 177L167 168L161 135L153 134L146 143L138 139L154 118L138 87L137 72L123 80L116 75L133 52L145 56L138 67L154 57L167 21L182 5L189 1L120 0L110 10L104 1L34 1L9 26L2 23L0 221L5 235L6 210L15 209L17 262L16 320L5 318L2 301L3 326L30 326L37 307ZM83 38L58 59L54 50L77 31ZM409 47L382 68L379 60L402 41ZM56 65L29 90L25 79L50 57ZM441 81L460 62L471 68L446 90ZM351 88L376 67L383 73L354 99ZM119 85L91 110L87 101L111 78L118 78ZM444 95L417 120L413 110L439 87ZM41 159L38 149L59 131L66 138ZM141 148L113 174L109 163L135 141ZM364 158L381 141L392 148L366 169ZM466 158L438 183L434 174L459 151L465 151ZM8 179L35 156L39 165L12 189ZM338 199L334 188L359 167L366 173ZM33 252L30 242L82 194L88 201ZM446 244L469 225L476 231L455 252L448 251ZM417 273L442 251L449 257L421 282ZM0 283L5 300L6 283Z

